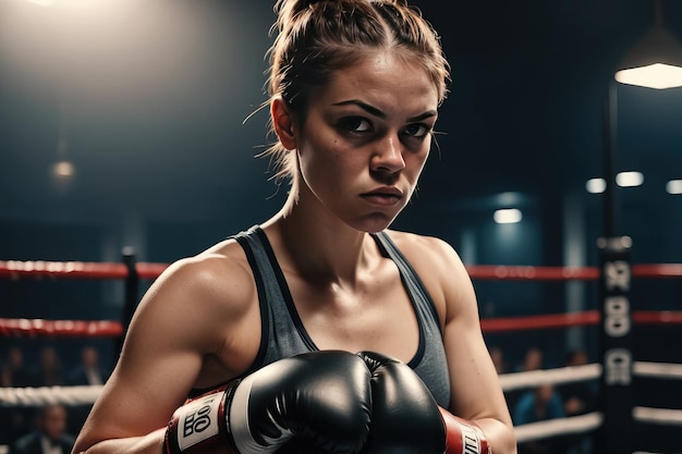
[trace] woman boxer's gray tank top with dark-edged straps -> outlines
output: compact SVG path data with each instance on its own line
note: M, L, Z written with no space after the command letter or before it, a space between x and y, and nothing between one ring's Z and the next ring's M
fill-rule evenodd
M372 236L377 242L381 254L392 259L398 266L403 285L416 312L419 345L417 353L407 365L424 381L436 402L441 407L448 408L450 379L442 333L434 303L412 266L389 236L383 232ZM281 358L318 351L319 348L301 322L284 274L265 232L260 226L254 225L233 237L243 247L253 270L263 323L258 355L245 375Z

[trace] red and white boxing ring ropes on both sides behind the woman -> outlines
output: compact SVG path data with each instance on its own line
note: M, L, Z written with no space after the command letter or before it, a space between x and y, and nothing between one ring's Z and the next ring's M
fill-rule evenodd
M607 263L608 265L608 263ZM56 261L0 261L0 280L113 280L123 281L125 286L125 303L120 320L45 320L45 319L8 319L0 318L0 334L3 338L74 338L74 339L110 339L117 348L120 348L125 334L125 327L130 322L132 314L138 302L141 281L155 280L166 268L166 263L136 262L131 255L124 256L121 263L115 262L56 262ZM468 266L470 275L476 285L478 281L519 281L519 282L553 282L565 284L569 282L598 282L608 274L602 267L563 268L563 267L513 267L513 266ZM675 283L682 282L682 265L632 265L630 274L633 282L641 280L661 282L662 280L673 280ZM616 274L620 275L620 274ZM677 284L675 284L677 285ZM606 289L613 290L613 286L606 285ZM607 292L608 293L608 292ZM598 336L599 331L616 328L617 336L625 338L623 329L644 327L644 329L661 332L671 330L671 339L678 339L677 345L661 345L665 348L680 349L679 339L682 334L682 311L675 310L632 310L629 312L623 305L623 295L601 295L606 302L616 300L606 307L611 307L613 312L605 312L600 309L588 309L572 312L543 314L514 317L486 317L482 316L482 329L487 342L496 336L523 336L529 332L561 332L562 330L590 330L592 335ZM673 295L680 298L681 296ZM611 299L609 299L611 298ZM678 304L677 307L680 307ZM602 309L602 308L601 308ZM620 315L626 318L619 318L613 322L612 316ZM645 335L648 335L645 333ZM633 340L633 343L636 342ZM608 342L606 342L608 344ZM675 440L682 440L682 406L679 408L665 408L662 406L651 406L646 398L649 391L640 390L634 393L637 386L651 385L653 389L670 389L671 393L682 395L682 364L674 361L653 361L642 358L622 361L623 357L613 363L608 356L610 351L605 348L605 341L601 340L598 348L597 360L580 366L558 366L540 368L527 371L503 371L499 379L504 390L508 402L510 396L533 390L544 384L552 386L563 386L569 383L588 382L596 386L597 395L596 408L576 416L547 419L537 422L529 422L514 426L516 439L521 446L532 446L534 443L551 441L555 439L582 438L582 440L597 441L598 446L606 446L608 452L621 452L620 449L611 450L609 446L622 446L622 440L612 440L613 431L607 430L610 424L619 425L617 430L621 433L630 427L635 427L631 438L628 438L629 453L654 453L657 451L656 440L658 433L668 438L669 433L677 434ZM607 345L608 347L608 345ZM617 347L619 347L617 345ZM622 346L614 351L623 352ZM636 355L636 352L635 352ZM628 358L628 357L625 357ZM625 368L622 376L613 376L613 364ZM620 393L618 400L605 398L602 394L608 390L609 380L613 377L626 377L623 382L616 381ZM632 377L632 380L630 380ZM665 384L661 384L665 383ZM598 384L598 385L597 385ZM611 383L613 384L613 383ZM624 385L623 385L624 384ZM668 386L668 388L666 388ZM97 398L101 390L100 385L80 386L45 386L45 388L0 388L0 407L37 407L51 403L61 403L66 406L90 405ZM675 392L677 390L677 392ZM638 394L638 395L637 395ZM621 398L624 396L624 398ZM640 402L642 401L642 402ZM613 404L616 402L616 404ZM617 406L616 416L613 408ZM622 412L625 405L625 412ZM511 409L511 407L510 407ZM609 418L618 418L616 422ZM646 431L653 431L656 435L647 435ZM619 435L620 437L620 435ZM673 435L670 435L673 437ZM651 443L649 443L653 441ZM670 449L669 449L670 450ZM581 452L598 452L597 449ZM7 446L0 446L0 454L7 452ZM524 452L520 450L520 452ZM567 451L568 452L568 451ZM623 451L624 452L624 451ZM673 445L672 451L682 452L682 441Z

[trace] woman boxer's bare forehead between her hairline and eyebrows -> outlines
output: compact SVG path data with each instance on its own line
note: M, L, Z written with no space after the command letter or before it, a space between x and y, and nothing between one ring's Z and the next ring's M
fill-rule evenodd
M326 85L313 89L312 102L357 99L381 110L427 111L438 108L438 88L413 57L376 51L337 70Z

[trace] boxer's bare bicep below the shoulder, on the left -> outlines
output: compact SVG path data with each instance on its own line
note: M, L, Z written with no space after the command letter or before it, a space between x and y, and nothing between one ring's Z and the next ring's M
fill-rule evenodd
M181 279L143 298L123 351L83 427L78 444L145 435L165 427L217 342L215 330Z

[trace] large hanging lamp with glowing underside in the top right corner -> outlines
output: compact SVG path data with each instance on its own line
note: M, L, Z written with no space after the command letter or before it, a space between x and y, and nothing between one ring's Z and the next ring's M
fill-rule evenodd
M682 46L663 27L660 0L656 2L654 27L625 54L616 81L657 89L682 86Z

